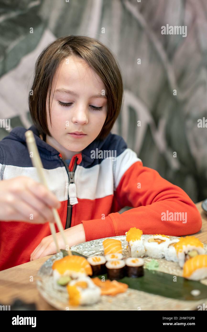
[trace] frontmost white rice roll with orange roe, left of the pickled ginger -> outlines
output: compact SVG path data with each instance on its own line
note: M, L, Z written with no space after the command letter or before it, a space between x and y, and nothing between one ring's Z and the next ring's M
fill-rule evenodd
M67 285L70 305L86 305L97 303L101 298L101 289L90 277L82 276Z

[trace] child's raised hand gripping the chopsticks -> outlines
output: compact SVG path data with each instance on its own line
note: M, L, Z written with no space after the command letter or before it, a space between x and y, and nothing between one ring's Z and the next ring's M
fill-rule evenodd
M0 181L0 220L54 222L52 207L60 207L56 196L32 178L18 176Z

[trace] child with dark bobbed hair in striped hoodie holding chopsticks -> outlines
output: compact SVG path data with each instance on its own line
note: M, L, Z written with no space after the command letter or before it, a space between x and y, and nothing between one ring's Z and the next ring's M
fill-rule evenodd
M27 129L14 128L0 142L0 270L55 253L46 221L54 222L51 207L59 203L70 246L125 235L130 227L175 236L200 230L188 195L144 167L110 132L122 96L119 67L101 42L68 36L43 50L29 96L29 129L52 193L38 184ZM118 213L125 206L133 208Z

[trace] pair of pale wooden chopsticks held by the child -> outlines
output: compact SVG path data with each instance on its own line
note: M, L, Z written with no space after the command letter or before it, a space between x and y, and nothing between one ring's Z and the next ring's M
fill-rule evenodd
M25 132L25 136L26 136L26 143L27 143L27 148L28 148L28 151L29 153L33 152L33 156L31 157L32 159L32 164L34 167L36 167L37 169L37 172L38 172L38 176L39 176L39 179L40 179L40 182L47 188L48 188L48 184L47 184L47 181L46 181L46 178L45 178L45 174L44 174L44 171L43 171L43 164L42 164L42 161L41 161L41 158L40 158L40 155L39 155L39 152L38 152L38 148L37 148L37 144L36 144L36 141L35 141L35 137L33 135L33 132L32 130L27 130ZM65 248L67 245L67 241L66 241L66 238L65 238L65 234L64 234L64 230L63 230L63 226L62 226L62 223L61 223L61 220L60 220L60 217L59 217L59 214L57 212L57 209L56 208L52 208L52 213L53 213L53 216L54 216L54 219L56 221L56 224L57 224L57 227L59 229L59 232L61 233L61 236L63 238L63 241L64 241L64 244L65 244ZM53 236L53 240L54 240L54 243L55 243L55 246L56 246L56 250L57 252L59 252L59 246L58 246L58 242L57 242L57 237L56 237L56 231L55 231L55 226L52 222L49 222L49 225L50 225L50 229L51 229L51 233L52 233L52 236ZM72 255L71 253L71 250L70 250L70 247L68 246L68 250L66 250L68 252L68 255Z

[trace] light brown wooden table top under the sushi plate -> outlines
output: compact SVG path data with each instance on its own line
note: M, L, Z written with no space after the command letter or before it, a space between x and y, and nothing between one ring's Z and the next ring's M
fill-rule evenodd
M194 235L202 242L207 243L207 214L203 211L201 202L197 203L196 206L201 213L202 228ZM36 288L37 272L49 257L46 256L0 271L0 303L10 305L15 298L19 298L28 303L35 302L37 310L56 310L41 297ZM33 276L33 281L30 281L31 276Z

